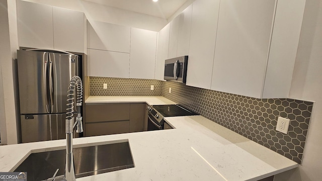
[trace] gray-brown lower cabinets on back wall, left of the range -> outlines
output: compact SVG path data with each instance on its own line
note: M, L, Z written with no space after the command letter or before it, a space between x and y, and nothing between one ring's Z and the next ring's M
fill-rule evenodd
M99 136L144 129L145 103L86 104L85 136Z

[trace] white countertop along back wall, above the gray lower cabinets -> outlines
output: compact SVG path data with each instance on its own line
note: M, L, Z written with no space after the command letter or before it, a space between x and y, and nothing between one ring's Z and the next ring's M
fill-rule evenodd
M149 105L177 104L162 96L90 96L85 103L147 103Z

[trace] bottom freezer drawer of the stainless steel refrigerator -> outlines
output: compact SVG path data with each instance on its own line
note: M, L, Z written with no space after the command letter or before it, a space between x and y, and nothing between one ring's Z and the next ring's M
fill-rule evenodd
M22 115L22 143L65 139L65 119L66 114Z

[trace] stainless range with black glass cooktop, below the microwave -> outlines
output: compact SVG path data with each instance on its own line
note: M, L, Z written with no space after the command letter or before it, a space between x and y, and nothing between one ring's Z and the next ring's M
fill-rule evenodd
M164 117L198 115L179 105L153 105L147 108L147 131L164 129Z

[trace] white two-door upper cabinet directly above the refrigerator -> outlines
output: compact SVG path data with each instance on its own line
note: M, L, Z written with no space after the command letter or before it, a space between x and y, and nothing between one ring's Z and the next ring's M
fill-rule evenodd
M17 1L21 47L85 52L84 13Z

